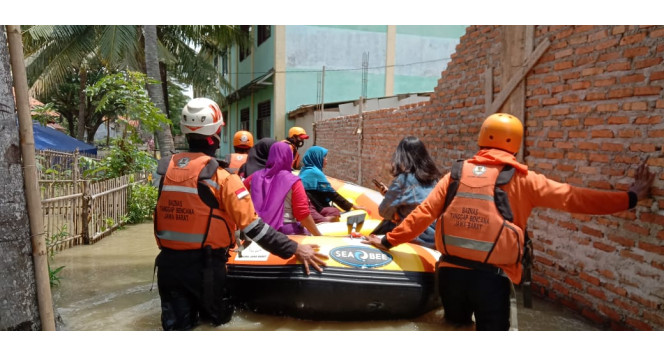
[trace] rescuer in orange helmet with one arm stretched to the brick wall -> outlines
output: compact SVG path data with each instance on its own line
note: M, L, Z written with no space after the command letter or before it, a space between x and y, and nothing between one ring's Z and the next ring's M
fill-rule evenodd
M364 243L390 249L417 237L438 218L438 283L448 322L471 324L474 314L477 330L515 329L510 296L512 283L521 282L526 221L533 208L612 214L633 208L650 194L655 175L645 161L627 192L574 187L517 162L514 155L522 140L518 118L490 115L480 129L475 156L455 164L392 232L382 239L365 237Z

